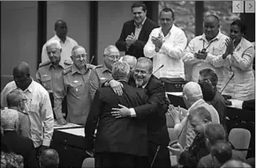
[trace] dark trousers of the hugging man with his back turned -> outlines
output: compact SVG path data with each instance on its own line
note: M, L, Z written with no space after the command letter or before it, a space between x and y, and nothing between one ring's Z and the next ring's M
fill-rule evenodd
M96 168L139 168L145 165L147 165L147 157L112 152L95 154Z

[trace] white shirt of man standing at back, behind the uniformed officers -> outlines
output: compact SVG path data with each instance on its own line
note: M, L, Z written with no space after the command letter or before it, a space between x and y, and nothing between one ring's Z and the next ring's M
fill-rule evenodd
M72 48L75 47L75 46L78 46L77 41L75 41L72 38L66 36L66 40L63 42L62 40L60 40L57 37L57 35L53 36L49 40L58 40L58 41L60 41L60 44L61 44L61 47L62 47L61 61L60 61L61 64L64 64L64 60L72 61L72 59L71 59ZM47 51L46 51L47 42L43 45L43 47L41 49L41 62L49 61L49 57L48 57Z

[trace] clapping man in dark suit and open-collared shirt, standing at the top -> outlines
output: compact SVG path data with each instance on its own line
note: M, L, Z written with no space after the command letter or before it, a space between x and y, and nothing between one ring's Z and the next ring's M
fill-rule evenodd
M146 45L151 31L158 27L151 19L147 18L145 4L136 2L132 4L133 19L124 23L122 33L116 46L125 55L133 55L136 58L144 56L143 47Z

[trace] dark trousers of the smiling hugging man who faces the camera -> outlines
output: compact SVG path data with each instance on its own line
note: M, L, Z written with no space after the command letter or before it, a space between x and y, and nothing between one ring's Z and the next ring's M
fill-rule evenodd
M148 142L148 164L151 168L170 167L171 164L167 145Z

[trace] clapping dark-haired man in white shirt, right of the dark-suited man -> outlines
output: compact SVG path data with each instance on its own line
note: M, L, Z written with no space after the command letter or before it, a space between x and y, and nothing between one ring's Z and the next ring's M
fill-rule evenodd
M174 25L174 12L170 8L160 11L159 20L161 27L154 28L150 33L144 47L144 55L153 58L153 71L155 77L172 78L184 81L184 48L187 38L184 31Z

